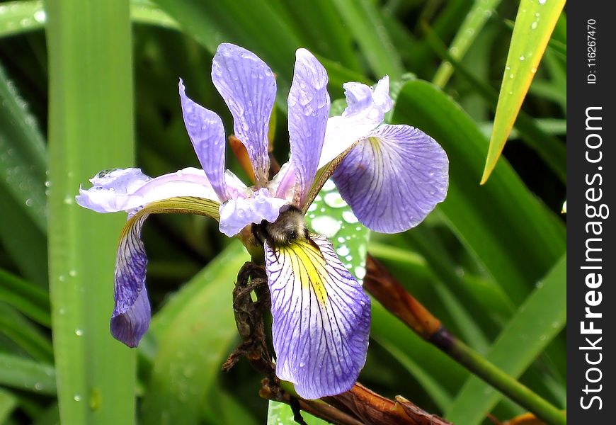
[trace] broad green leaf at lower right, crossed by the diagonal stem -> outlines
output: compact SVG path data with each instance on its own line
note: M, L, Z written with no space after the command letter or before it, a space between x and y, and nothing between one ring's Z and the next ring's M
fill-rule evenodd
M566 256L537 285L498 336L486 358L518 378L566 324ZM447 419L455 424L479 424L501 395L472 377L457 395Z

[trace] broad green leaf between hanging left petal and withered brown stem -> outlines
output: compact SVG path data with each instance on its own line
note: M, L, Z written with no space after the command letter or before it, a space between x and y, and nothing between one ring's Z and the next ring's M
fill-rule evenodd
M200 424L200 406L236 339L232 290L248 259L239 242L229 245L154 316L151 333L158 351L142 423Z

